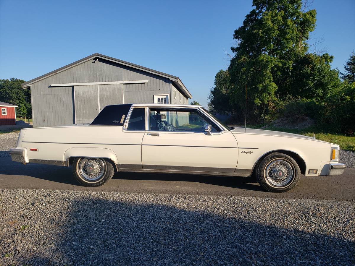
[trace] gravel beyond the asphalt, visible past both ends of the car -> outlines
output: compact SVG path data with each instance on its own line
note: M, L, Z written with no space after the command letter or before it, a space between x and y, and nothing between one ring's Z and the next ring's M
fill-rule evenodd
M0 134L0 157L9 157L11 148L15 148L19 133ZM348 167L355 167L355 153L353 151L340 151L340 162L345 163Z

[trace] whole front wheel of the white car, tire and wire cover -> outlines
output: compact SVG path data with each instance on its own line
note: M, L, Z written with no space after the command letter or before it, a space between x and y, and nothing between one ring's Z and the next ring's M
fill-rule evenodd
M272 153L257 166L258 183L270 192L286 192L295 187L300 179L301 170L289 155Z

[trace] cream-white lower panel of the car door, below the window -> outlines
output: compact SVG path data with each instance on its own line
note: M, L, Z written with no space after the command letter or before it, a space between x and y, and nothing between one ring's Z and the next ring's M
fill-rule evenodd
M143 169L233 173L237 161L238 145L231 132L149 131L143 137Z

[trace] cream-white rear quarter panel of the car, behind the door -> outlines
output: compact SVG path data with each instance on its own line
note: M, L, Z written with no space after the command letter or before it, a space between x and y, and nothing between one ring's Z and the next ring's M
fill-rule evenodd
M122 126L33 128L26 132L21 147L26 148L30 160L61 161L67 165L70 157L92 156L110 158L116 165L141 166L143 135L144 132L124 131Z

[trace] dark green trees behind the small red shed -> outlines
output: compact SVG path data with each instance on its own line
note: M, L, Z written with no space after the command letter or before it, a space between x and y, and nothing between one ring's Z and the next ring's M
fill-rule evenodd
M31 117L31 92L22 89L22 79L0 79L0 101L15 104L17 117Z

